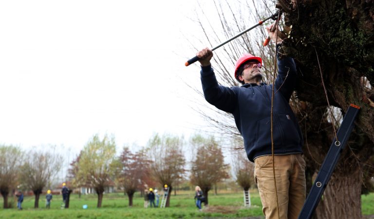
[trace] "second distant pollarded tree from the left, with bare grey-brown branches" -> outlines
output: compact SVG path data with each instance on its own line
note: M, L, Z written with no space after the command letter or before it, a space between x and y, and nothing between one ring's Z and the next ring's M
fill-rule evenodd
M50 186L54 177L60 171L62 156L56 152L30 151L25 155L19 169L20 188L34 192L34 207L39 207L39 197L43 188Z

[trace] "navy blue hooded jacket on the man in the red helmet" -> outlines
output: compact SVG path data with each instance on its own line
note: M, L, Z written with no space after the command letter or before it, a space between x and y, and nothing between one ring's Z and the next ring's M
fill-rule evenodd
M289 100L296 82L296 66L292 58L278 59L273 103L274 154L302 153L301 131ZM244 148L250 161L271 155L270 113L272 84L246 83L241 87L219 85L211 66L201 69L205 99L218 109L232 113L244 139Z

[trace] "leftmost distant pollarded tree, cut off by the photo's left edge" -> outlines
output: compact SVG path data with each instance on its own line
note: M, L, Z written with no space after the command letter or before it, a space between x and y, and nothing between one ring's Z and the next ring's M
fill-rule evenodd
M16 189L22 160L23 153L18 147L0 145L0 194L4 199L4 208L8 208L9 193Z

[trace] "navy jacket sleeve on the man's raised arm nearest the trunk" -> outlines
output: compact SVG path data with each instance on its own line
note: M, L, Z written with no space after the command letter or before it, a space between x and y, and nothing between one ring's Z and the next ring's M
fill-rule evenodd
M280 44L277 45L277 50L279 47ZM277 63L278 76L275 80L276 91L281 92L286 100L290 100L297 81L295 61L291 57L280 59L280 54L277 53Z

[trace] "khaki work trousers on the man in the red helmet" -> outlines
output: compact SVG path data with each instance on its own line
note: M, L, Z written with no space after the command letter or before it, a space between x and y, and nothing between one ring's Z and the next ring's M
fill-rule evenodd
M275 155L280 219L297 219L305 202L305 160L301 154ZM266 219L278 219L272 156L255 159L255 180Z

